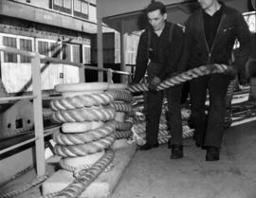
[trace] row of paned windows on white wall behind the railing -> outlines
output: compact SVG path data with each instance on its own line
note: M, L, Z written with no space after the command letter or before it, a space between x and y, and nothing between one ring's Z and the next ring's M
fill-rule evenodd
M0 35L0 44L10 46L26 51L34 51L33 39L18 38L11 36ZM68 62L74 63L90 63L90 46L89 45L75 45L75 44L61 44L47 40L36 40L36 51L39 54L47 57L54 57ZM83 54L82 54L83 52ZM30 63L29 57L17 55L13 53L3 53L4 63ZM43 61L41 61L43 63Z

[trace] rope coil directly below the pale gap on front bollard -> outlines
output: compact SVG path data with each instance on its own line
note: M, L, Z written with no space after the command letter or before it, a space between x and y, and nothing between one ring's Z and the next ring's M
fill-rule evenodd
M59 145L78 145L100 140L104 136L111 135L115 129L116 121L108 121L104 126L84 133L67 134L55 132L52 138Z

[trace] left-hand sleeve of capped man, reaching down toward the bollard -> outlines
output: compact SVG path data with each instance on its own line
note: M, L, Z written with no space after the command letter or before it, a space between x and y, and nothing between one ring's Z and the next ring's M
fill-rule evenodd
M145 75L148 63L148 39L147 33L143 32L139 38L137 46L136 72L134 83L138 83Z

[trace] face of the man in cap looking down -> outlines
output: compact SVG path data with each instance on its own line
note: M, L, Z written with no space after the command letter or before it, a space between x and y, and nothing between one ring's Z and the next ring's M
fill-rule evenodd
M151 26L155 31L160 30L165 25L165 20L167 18L167 14L162 14L160 9L156 9L154 11L148 12L148 20Z

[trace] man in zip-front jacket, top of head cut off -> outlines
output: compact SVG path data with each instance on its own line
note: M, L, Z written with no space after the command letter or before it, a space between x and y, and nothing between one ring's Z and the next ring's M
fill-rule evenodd
M242 72L250 54L250 33L247 23L235 9L218 0L198 0L201 9L192 13L186 23L185 45L180 69L203 64L229 65L235 40L239 53L225 74L199 77L191 82L192 123L195 126L196 146L207 149L206 160L219 160L225 120L225 96L229 81ZM208 120L205 101L209 90Z

